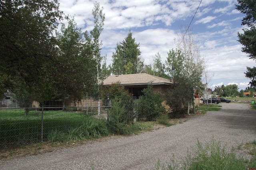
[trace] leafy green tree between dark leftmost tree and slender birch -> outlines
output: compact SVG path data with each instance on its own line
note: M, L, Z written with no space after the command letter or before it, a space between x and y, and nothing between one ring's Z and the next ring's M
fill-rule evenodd
M96 60L90 48L90 41L84 39L81 29L76 27L74 17L68 19L68 26L62 24L56 33L60 48L54 87L55 97L80 101L96 83Z

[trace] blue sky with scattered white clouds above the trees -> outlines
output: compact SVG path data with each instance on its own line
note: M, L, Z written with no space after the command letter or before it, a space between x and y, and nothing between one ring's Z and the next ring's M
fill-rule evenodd
M59 0L60 10L74 16L77 27L90 31L94 27L94 0ZM255 61L242 53L237 33L243 33L241 20L245 14L236 10L236 0L97 0L105 14L104 30L100 35L102 56L112 63L116 44L129 30L140 44L144 64L153 64L160 54L162 63L168 52L175 49L180 28L189 26L206 61L208 87L238 85L238 91L248 87L246 67ZM198 8L199 7L199 8ZM197 10L198 9L198 10ZM196 12L197 11L197 12ZM194 18L193 18L194 17Z

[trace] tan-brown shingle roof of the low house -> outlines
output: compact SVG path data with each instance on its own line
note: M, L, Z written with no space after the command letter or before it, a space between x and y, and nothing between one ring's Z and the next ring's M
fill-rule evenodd
M111 75L104 81L104 85L112 85L119 82L121 85L171 85L173 84L169 79L149 75L147 73L125 74L125 75Z

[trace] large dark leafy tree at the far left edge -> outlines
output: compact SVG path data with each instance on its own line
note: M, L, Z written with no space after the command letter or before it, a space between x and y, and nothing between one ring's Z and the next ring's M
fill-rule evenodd
M40 97L49 89L56 60L52 32L62 18L58 0L2 0L0 11L0 90Z

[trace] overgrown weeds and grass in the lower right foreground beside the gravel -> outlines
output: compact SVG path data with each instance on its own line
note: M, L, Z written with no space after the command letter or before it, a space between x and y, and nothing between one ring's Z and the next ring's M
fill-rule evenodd
M256 140L249 142L244 147L252 155L250 161L245 160L242 156L235 154L234 150L227 151L226 145L222 146L220 141L210 140L203 145L197 140L196 145L188 150L186 160L178 166L174 156L170 164L162 165L160 160L156 163L156 170L243 170L246 168L256 167Z

